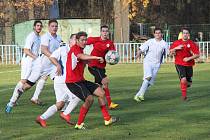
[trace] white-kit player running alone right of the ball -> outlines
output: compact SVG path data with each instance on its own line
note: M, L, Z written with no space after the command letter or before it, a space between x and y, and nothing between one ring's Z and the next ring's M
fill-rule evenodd
M150 85L153 85L160 65L163 61L164 55L168 54L169 46L162 39L162 30L155 28L154 38L149 39L143 45L140 46L136 58L140 57L140 54L144 54L144 77L141 88L134 96L134 100L141 102L144 100L144 94Z

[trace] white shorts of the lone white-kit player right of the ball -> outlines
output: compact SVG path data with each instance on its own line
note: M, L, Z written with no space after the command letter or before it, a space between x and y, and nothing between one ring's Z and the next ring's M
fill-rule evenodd
M145 80L148 77L151 77L151 80L149 81L149 83L153 85L159 69L160 69L160 64L157 65L157 64L151 64L151 63L144 63L143 80Z

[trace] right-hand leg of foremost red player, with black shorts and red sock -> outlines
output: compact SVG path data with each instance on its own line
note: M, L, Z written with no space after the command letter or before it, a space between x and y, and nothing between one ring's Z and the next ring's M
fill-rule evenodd
M105 125L110 125L112 123L115 123L117 121L117 118L111 117L109 114L107 108L106 108L106 101L105 101L105 93L101 87L99 87L97 84L85 81L86 86L88 90L93 93L95 96L98 97L98 103L101 108L101 112L104 118Z

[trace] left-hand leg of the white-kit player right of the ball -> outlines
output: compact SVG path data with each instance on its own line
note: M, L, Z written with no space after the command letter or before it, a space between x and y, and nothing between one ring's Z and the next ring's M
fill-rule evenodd
M141 102L144 100L144 94L146 93L148 87L150 86L150 80L152 79L153 75L153 67L150 64L144 63L144 77L142 85L137 92L137 94L134 96L134 100L137 102Z

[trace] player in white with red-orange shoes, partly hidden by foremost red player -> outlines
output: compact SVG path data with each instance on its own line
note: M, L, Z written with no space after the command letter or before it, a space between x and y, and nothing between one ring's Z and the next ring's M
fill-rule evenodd
M50 56L51 62L56 66L56 76L54 78L54 90L56 95L56 104L50 106L41 116L38 116L36 122L42 127L46 127L46 120L53 116L58 110L64 106L64 103L68 100L70 103L64 112L61 112L60 117L67 123L70 123L70 113L76 107L80 99L72 94L66 84L66 61L67 55L72 44L76 42L76 35L71 36L71 43L69 46L64 45L55 50Z

